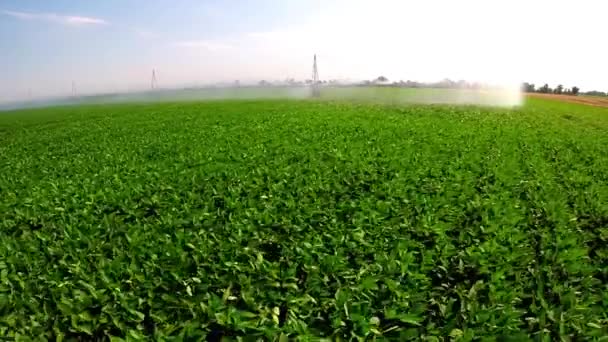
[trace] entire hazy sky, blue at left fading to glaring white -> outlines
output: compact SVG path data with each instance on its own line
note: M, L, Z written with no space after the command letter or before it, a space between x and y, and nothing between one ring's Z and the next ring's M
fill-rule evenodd
M0 101L240 79L608 89L603 0L0 0ZM541 32L546 32L541 34ZM558 34L557 34L558 33Z

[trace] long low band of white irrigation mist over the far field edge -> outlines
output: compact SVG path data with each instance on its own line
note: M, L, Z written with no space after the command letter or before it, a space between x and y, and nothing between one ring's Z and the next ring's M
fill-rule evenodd
M0 110L76 104L238 99L315 99L320 101L353 101L392 105L436 103L514 107L522 104L523 96L519 89L513 88L441 89L388 86L327 86L320 88L318 97L313 97L311 86L250 86L157 89L146 92L58 97L0 104Z

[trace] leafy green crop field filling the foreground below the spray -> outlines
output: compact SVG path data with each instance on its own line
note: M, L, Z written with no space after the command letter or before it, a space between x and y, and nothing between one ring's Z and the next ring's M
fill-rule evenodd
M606 108L0 112L0 337L606 335Z

